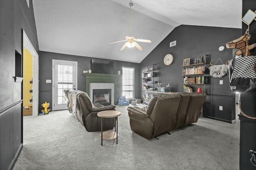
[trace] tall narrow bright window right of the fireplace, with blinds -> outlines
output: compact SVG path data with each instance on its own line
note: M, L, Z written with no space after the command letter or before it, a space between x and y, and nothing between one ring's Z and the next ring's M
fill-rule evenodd
M122 92L126 98L134 98L134 68L123 67Z

